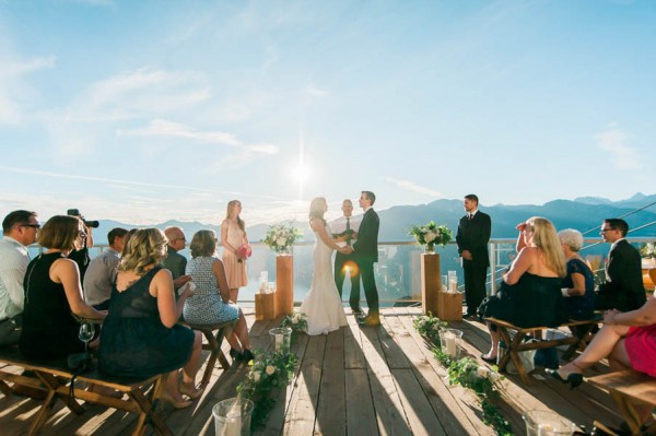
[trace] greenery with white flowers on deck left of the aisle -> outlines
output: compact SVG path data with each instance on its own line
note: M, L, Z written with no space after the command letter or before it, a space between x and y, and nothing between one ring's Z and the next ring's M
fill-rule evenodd
M297 357L292 353L260 353L250 363L250 372L237 386L237 393L254 403L250 428L261 427L273 409L276 392L294 377Z

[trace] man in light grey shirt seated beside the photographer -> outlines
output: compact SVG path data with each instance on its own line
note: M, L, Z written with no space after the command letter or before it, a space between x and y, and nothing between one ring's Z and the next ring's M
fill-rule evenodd
M84 299L97 310L109 307L112 284L116 280L116 267L125 246L128 231L116 227L107 234L109 248L96 256L84 275Z

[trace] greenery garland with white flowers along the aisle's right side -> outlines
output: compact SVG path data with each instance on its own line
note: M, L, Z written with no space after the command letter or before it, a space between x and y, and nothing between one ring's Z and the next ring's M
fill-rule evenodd
M490 369L479 365L471 357L462 357L459 361L452 360L440 345L440 330L444 329L447 323L433 317L432 314L417 317L413 325L417 331L435 346L432 350L433 355L441 365L448 368L449 385L469 388L480 399L483 423L494 428L499 436L514 435L511 424L494 405L494 400L499 398L499 381L502 379L496 373L496 365Z

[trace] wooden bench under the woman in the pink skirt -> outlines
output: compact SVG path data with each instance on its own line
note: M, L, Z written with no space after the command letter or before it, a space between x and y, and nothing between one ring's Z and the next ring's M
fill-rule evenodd
M587 381L609 391L631 434L656 434L656 423L641 428L656 408L656 378L628 369L587 378Z

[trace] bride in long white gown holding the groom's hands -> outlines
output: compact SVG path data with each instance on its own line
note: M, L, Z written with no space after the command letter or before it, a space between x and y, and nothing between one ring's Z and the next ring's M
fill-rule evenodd
M301 305L307 316L307 334L326 334L347 325L335 276L332 274L332 250L348 255L350 248L340 247L330 237L324 213L328 210L326 199L317 197L309 204L309 226L316 241L314 246L314 272L312 286Z

